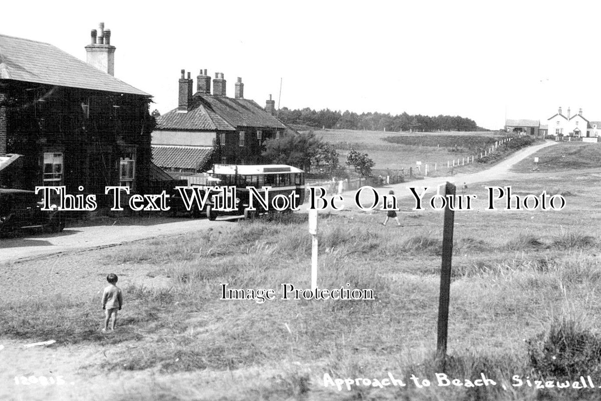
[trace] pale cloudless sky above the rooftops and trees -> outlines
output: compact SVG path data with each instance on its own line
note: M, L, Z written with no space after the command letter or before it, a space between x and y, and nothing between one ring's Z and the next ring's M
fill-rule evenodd
M28 1L0 34L85 60L99 22L115 77L177 106L180 70L224 73L264 106L460 115L488 129L567 108L601 121L601 2ZM280 85L281 84L281 85ZM281 96L280 96L281 88ZM601 91L600 91L601 92Z

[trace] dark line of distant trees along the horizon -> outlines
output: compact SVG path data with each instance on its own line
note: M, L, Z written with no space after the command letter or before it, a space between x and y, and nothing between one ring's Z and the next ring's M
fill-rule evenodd
M397 115L389 113L369 112L357 114L351 111L335 111L323 109L316 111L310 108L288 109L281 108L278 118L287 124L304 125L328 129L358 129L374 131L481 131L474 120L459 115L410 115L406 112Z

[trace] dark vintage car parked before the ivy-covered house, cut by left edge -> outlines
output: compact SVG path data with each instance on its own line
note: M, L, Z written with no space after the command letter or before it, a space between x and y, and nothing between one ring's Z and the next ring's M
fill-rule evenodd
M65 228L63 213L42 210L40 195L22 189L0 188L0 234L22 228L41 228L47 233L58 233Z

